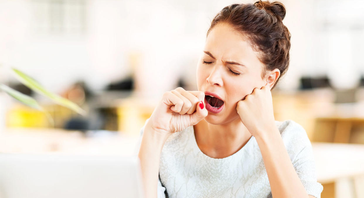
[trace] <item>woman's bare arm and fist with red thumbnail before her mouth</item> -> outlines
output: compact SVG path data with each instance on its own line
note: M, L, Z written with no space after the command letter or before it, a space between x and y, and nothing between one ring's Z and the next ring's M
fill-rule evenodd
M202 100L205 93L178 87L163 94L148 120L139 148L144 195L157 197L159 160L167 138L207 116Z

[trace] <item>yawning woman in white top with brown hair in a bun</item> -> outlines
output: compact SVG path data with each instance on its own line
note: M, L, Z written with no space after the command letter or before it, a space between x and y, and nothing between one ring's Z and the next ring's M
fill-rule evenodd
M284 17L268 1L214 17L198 91L166 92L141 129L146 197L320 197L305 130L273 116L270 90L289 64Z

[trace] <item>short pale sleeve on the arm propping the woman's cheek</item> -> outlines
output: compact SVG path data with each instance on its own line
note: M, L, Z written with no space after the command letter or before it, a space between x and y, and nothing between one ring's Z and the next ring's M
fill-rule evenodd
M316 198L321 198L321 192L324 187L317 182L316 167L313 157L312 145L307 136L305 129L299 125L297 130L297 139L300 144L298 153L293 159L292 164L302 184L304 185L307 194L313 195Z

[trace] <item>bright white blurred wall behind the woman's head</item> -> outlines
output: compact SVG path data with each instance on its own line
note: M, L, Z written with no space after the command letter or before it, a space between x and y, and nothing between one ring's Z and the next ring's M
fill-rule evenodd
M24 70L55 92L78 79L86 80L92 89L98 90L127 76L132 71L128 54L140 53L141 67L136 71L144 79L141 91L159 95L174 89L180 75L192 86L195 84L195 67L210 21L224 6L237 1L85 0L85 30L72 32L72 27L68 27L68 32L63 33L42 31L48 16L39 15L46 9L37 7L39 2L46 0L0 0L1 64ZM238 3L241 2L254 1ZM304 75L340 73L338 66L329 72L336 62L347 62L349 75L364 73L361 61L364 32L360 27L364 26L360 22L364 21L364 15L352 14L354 8L350 2L282 1L287 9L284 24L292 34L292 47L290 67L279 88L298 88L299 77ZM364 7L363 3L355 2L355 10ZM328 7L329 4L338 4L342 9ZM346 4L350 7L345 8ZM72 9L78 8L72 5L68 11L77 13ZM337 18L333 17L336 14ZM330 28L337 21L339 28L322 31L325 17L333 19ZM67 20L72 19L71 16ZM350 27L340 27L352 19L357 20ZM345 42L335 42L340 36L345 37ZM0 77L3 77L0 81L8 78ZM155 88L159 92L151 92Z

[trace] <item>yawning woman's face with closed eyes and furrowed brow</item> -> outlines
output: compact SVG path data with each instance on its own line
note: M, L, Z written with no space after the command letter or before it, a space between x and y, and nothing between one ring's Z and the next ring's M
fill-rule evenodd
M226 23L215 25L197 64L197 88L217 94L224 104L219 113L209 111L205 120L225 124L239 118L238 101L251 94L254 88L266 85L261 78L262 69L258 52L241 35Z

